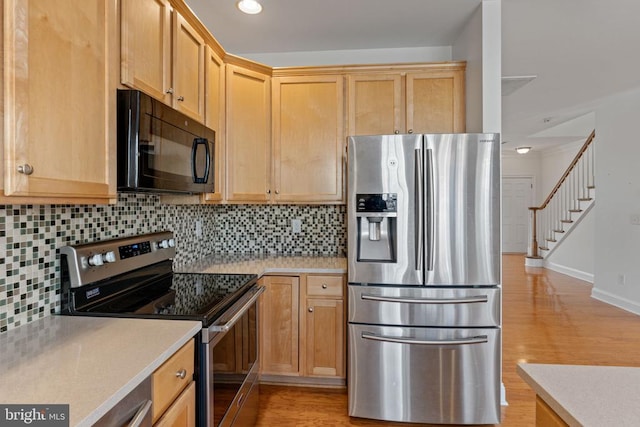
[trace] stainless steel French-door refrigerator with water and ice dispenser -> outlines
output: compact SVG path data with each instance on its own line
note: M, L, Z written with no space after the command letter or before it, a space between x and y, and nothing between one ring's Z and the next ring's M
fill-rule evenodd
M349 137L349 415L500 421L499 140Z

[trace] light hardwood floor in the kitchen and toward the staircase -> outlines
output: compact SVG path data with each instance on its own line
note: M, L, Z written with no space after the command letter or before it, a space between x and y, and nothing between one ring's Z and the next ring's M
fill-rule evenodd
M640 366L640 316L591 298L591 285L503 256L503 382L500 426L535 424L535 394L516 364ZM407 426L349 418L346 390L262 385L258 426Z

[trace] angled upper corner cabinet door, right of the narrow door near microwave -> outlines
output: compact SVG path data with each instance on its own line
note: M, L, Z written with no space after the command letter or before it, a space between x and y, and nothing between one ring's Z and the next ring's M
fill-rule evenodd
M270 78L227 65L227 200L270 198Z

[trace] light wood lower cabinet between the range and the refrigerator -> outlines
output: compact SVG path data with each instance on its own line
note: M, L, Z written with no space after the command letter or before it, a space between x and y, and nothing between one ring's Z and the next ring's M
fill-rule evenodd
M264 382L344 385L345 277L264 276L260 310Z

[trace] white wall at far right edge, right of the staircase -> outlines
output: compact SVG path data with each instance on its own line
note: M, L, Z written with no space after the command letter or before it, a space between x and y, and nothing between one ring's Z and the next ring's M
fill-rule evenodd
M593 296L640 314L640 87L596 109ZM624 280L623 277L624 276ZM624 281L624 284L621 282Z

